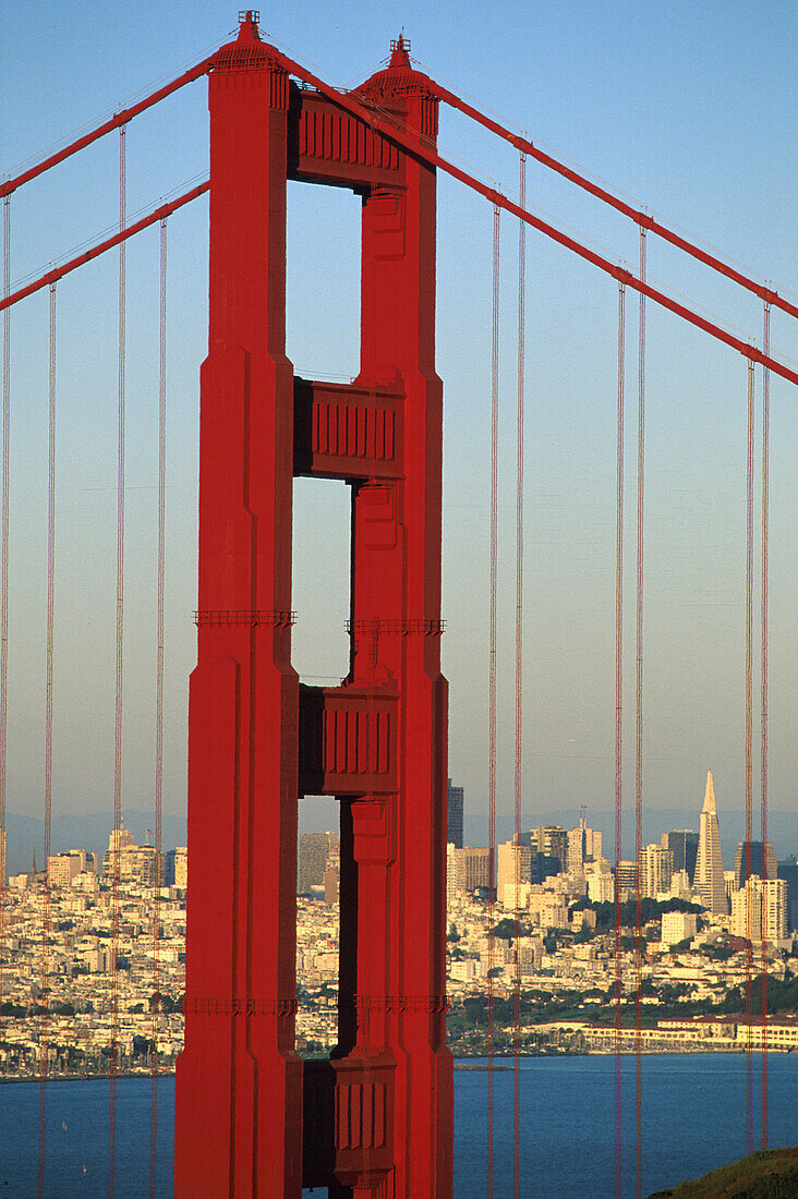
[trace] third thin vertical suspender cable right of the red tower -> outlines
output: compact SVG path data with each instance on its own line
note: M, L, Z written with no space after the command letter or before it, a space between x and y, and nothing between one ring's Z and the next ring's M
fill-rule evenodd
M618 284L618 440L616 468L616 1199L620 1199L620 818L624 598L624 332L626 289Z

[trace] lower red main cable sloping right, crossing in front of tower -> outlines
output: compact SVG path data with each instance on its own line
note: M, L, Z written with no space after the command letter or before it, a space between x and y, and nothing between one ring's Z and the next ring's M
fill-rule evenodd
M460 167L455 167L454 163L449 162L446 158L442 158L442 156L428 145L422 145L418 138L409 137L390 121L358 103L358 101L353 100L350 95L336 91L335 88L330 88L330 85L319 79L318 76L314 76L312 71L308 71L306 67L294 62L293 59L289 59L281 50L272 47L272 53L290 74L296 76L298 79L302 79L312 88L316 88L329 100L334 101L334 103L360 118L360 120L366 125L371 125L376 129L379 129L383 137L396 141L396 144L408 153L412 153L414 157L428 163L431 167L438 167L448 175L451 175L452 179L457 179L461 183L464 183L466 187L470 187L473 192L478 192L480 195L484 195L491 204L497 204L500 209L504 209L505 212L512 213L512 216L517 217L520 221L526 221L526 223L532 225L533 229L545 234L546 237L551 237L552 241L564 246L565 249L570 249L571 253L583 258L586 263L598 266L600 271L605 272L605 275L610 275L613 279L618 279L619 283L625 283L628 287L634 288L635 291L640 291L641 295L653 300L654 303L660 305L662 308L667 308L668 312L680 317L682 320L686 320L690 325L695 325L695 327L700 329L702 332L709 333L710 337L714 337L719 342L724 342L725 345L730 345L733 350L737 350L738 354L742 354L751 362L758 362L761 366L768 367L768 369L773 370L774 374L778 374L782 379L787 379L788 382L798 386L798 372L791 370L790 367L785 366L782 362L779 362L776 359L772 359L768 354L763 354L762 350L756 348L756 345L750 345L748 342L743 342L739 337L734 337L733 333L730 333L725 329L721 329L720 325L715 325L713 321L707 320L706 317L698 315L698 313L685 307L685 305L679 303L677 300L671 299L671 296L666 295L664 291L658 291L656 288L652 288L648 283L643 283L635 275L632 275L631 271L625 270L623 266L618 266L616 263L611 263L608 259L602 258L601 254L596 254L595 251L588 249L587 246L583 246L580 241L576 241L576 239L569 237L569 235L563 233L562 229L557 229L554 225L548 224L546 221L541 221L540 217L534 216L532 212L527 212L518 204L514 204L512 200L509 200L502 192L496 191L493 187L488 187L487 183L482 183L479 179L469 175L468 171L462 170Z

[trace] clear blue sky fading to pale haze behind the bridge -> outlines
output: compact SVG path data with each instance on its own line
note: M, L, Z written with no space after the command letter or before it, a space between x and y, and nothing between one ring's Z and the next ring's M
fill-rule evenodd
M0 173L89 127L227 40L233 7L7 0L0 19ZM262 30L352 86L403 28L451 90L619 193L798 293L796 52L791 2L407 2L318 0L262 10ZM127 134L128 213L208 169L204 82ZM509 194L514 152L443 112L440 147ZM12 279L41 273L118 219L116 135L12 200ZM634 266L636 228L528 168L528 201ZM164 805L185 807L186 677L193 663L198 368L206 329L206 201L169 222L168 650ZM491 210L440 179L438 370L445 396L444 669L450 773L467 837L486 839ZM515 291L517 228L502 237L499 835L512 808ZM355 198L290 185L288 354L298 373L358 369ZM613 795L616 305L611 279L527 239L524 824ZM649 239L649 277L748 338L758 302ZM113 797L116 260L58 289L59 451L54 811ZM634 567L636 300L628 300L626 562ZM13 315L8 808L41 811L44 700L47 299ZM707 769L719 812L743 803L745 363L649 306L647 362L646 791L697 820ZM774 313L773 350L798 360ZM157 500L157 231L128 249L127 625L124 802L152 802ZM761 378L757 374L757 404ZM770 802L796 800L798 422L772 386ZM760 428L757 410L757 429ZM758 454L758 447L757 447ZM757 462L757 490L760 486ZM295 665L344 673L347 496L296 486ZM301 559L301 560L300 560ZM634 600L628 571L626 596ZM319 602L319 597L320 602ZM632 663L634 611L625 616ZM756 637L758 639L758 625ZM757 667L758 669L758 667ZM634 677L625 725L632 764ZM758 700L757 700L758 703ZM634 773L624 776L632 799ZM694 827L697 825L694 824ZM797 846L778 846L781 851Z

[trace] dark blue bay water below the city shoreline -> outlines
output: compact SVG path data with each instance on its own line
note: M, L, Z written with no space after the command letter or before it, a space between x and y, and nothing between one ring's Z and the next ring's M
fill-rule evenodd
M770 1054L769 1144L798 1144L798 1055ZM512 1072L498 1071L494 1197L512 1194ZM146 1078L119 1079L116 1199L150 1193ZM755 1144L761 1138L755 1059ZM485 1195L487 1074L455 1072L455 1197ZM521 1066L521 1194L524 1199L614 1195L614 1059L530 1058ZM158 1084L157 1194L172 1195L174 1080ZM634 1061L623 1070L623 1194L635 1193ZM66 1126L66 1127L64 1127ZM643 1059L643 1194L696 1177L745 1153L745 1056ZM0 1199L37 1195L38 1084L0 1086ZM85 1171L84 1171L85 1167ZM108 1194L108 1081L47 1086L48 1199ZM310 1195L310 1192L307 1192ZM316 1192L322 1199L324 1192ZM202 1197L198 1197L202 1199Z

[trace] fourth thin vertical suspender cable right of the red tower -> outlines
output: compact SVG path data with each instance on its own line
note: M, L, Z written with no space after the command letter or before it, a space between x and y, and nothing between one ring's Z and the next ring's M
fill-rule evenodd
M646 282L646 230L640 230L640 277ZM640 294L637 331L637 596L635 667L635 1187L643 1197L643 1059L642 1011L643 920L641 851L643 848L643 501L646 498L646 296Z

